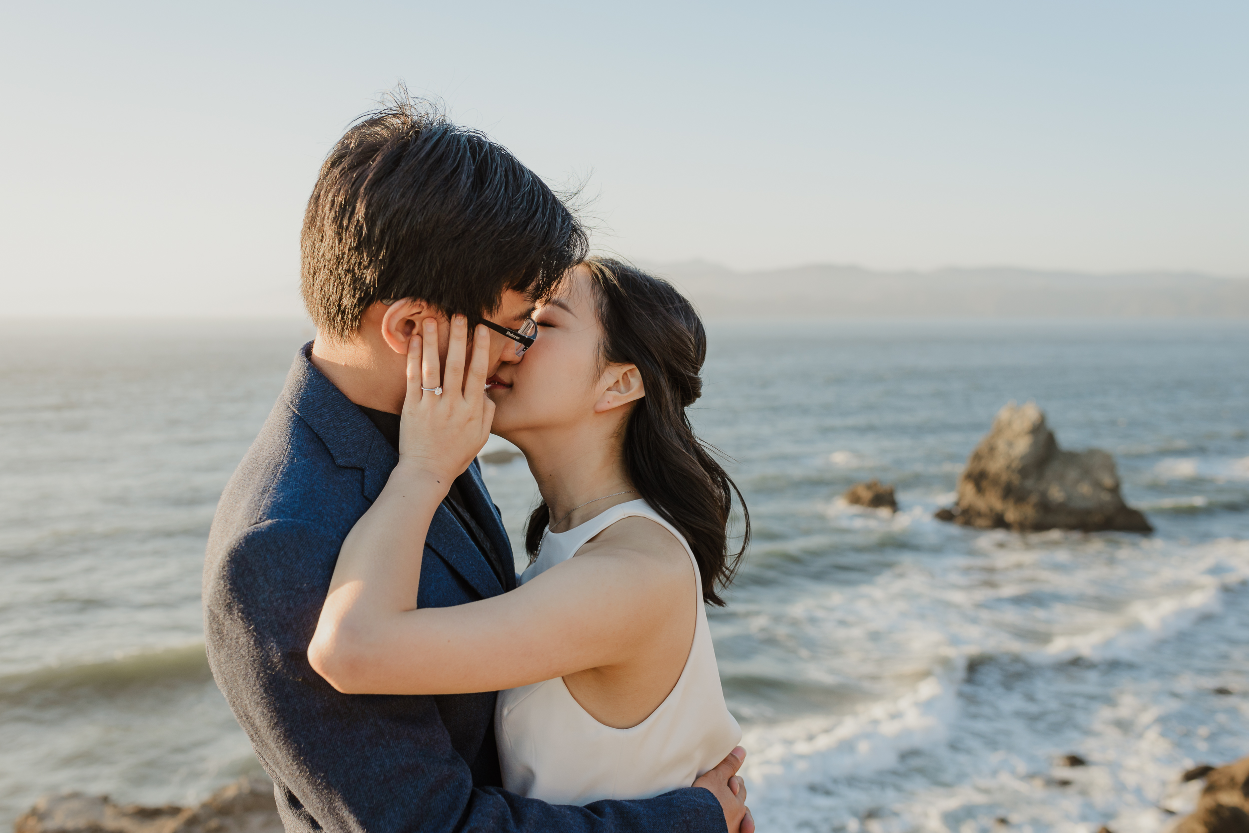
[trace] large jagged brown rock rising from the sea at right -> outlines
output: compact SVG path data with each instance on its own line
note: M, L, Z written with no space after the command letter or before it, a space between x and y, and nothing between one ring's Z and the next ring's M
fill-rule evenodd
M958 478L958 504L937 518L1017 531L1153 531L1144 515L1123 503L1114 458L1100 449L1059 449L1034 403L1010 403L998 412Z

